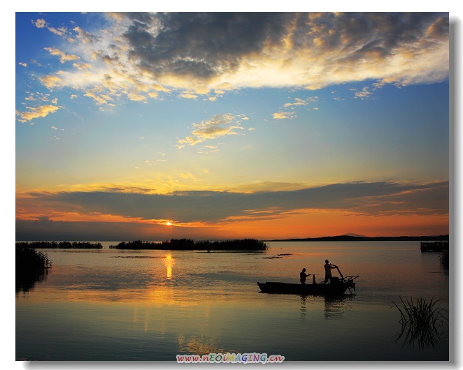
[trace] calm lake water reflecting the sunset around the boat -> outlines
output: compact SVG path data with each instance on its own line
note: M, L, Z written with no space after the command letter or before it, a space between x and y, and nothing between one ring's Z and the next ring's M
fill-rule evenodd
M398 338L400 313L392 307L402 297L440 299L449 309L439 253L421 253L419 242L268 244L264 253L42 250L51 272L16 294L16 359L175 362L177 354L266 353L285 362L449 360L448 333L434 346L408 343ZM344 276L359 275L355 294L259 293L257 281L299 283L303 267L321 282L325 259Z

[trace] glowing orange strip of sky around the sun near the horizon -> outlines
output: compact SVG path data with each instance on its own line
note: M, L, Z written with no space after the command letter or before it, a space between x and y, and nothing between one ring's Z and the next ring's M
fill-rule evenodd
M108 229L136 226L138 238L159 241L175 237L177 231L185 237L201 239L233 239L251 237L256 239L290 239L324 237L354 233L366 237L397 237L422 235L447 235L449 217L446 214L424 216L422 214L362 215L336 209L298 209L273 215L269 212L244 216L229 216L216 222L178 222L174 219L152 219L129 217L117 214L62 212L59 209L40 205L37 212L30 208L17 207L17 219L36 222L48 214L50 223L106 223ZM186 233L186 234L185 234ZM159 235L159 236L157 236ZM207 237L206 237L207 235Z

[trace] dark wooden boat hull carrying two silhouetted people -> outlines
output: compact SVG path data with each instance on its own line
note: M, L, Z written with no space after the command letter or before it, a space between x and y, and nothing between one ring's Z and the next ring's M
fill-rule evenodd
M257 283L262 293L297 295L342 295L348 288L355 288L352 281L337 281L327 284L292 284L269 282Z

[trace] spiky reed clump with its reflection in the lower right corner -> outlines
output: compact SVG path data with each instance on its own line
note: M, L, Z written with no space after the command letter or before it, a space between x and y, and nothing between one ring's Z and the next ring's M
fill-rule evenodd
M448 333L448 318L444 315L448 311L439 306L440 299L432 298L430 302L423 298L415 302L412 298L399 299L401 304L393 302L401 316L401 333L397 340L404 336L404 343L413 346L418 342L418 348L422 349L434 347L441 336Z

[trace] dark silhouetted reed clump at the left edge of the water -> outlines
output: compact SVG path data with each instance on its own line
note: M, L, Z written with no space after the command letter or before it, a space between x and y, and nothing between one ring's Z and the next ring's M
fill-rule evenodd
M37 281L43 281L52 262L48 256L32 248L16 248L16 293L27 292Z

